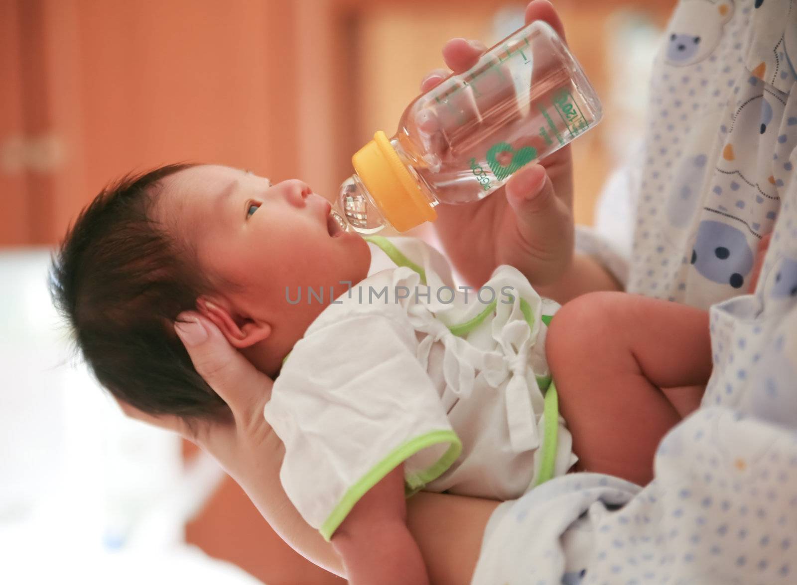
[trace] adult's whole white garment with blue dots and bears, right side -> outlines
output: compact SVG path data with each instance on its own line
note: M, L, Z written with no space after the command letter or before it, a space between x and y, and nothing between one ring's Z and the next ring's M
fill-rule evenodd
M665 436L645 489L570 474L501 505L473 583L795 583L795 64L791 0L677 6L630 197L627 290L711 306L701 410Z

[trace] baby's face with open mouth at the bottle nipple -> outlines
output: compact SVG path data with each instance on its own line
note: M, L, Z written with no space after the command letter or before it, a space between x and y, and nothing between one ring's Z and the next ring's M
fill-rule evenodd
M201 267L241 286L225 293L230 309L304 329L324 308L315 298L308 305L308 287L324 287L326 305L330 287L343 294L347 285L340 281L359 282L371 263L365 240L341 232L329 212L328 201L302 181L272 185L210 165L168 177L155 208L194 245Z

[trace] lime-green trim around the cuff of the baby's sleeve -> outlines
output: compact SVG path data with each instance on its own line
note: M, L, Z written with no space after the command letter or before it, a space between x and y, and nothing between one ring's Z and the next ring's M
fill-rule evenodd
M405 489L405 491L411 495L418 491L418 489L426 486L427 483L434 481L444 474L462 452L462 443L459 437L457 437L457 434L451 430L431 431L426 433L426 435L410 439L407 443L394 449L386 458L372 467L367 474L363 475L359 482L346 490L344 497L340 500L338 505L335 506L332 513L329 514L329 517L324 521L324 524L321 525L321 528L319 528L319 532L321 532L321 536L324 536L324 540L328 542L332 538L332 534L335 533L340 524L346 519L348 513L351 512L351 509L354 508L355 504L369 489L381 482L387 474L395 470L395 468L406 461L407 458L418 453L419 450L426 449L426 447L431 447L438 443L450 443L450 447L429 469L405 478L404 482L406 488L409 488Z

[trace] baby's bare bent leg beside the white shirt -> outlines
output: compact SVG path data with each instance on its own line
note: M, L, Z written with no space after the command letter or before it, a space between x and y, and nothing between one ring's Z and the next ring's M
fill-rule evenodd
M546 343L579 470L650 482L656 447L681 420L662 388L694 387L681 400L698 404L709 380L709 314L635 294L584 294L559 310Z

